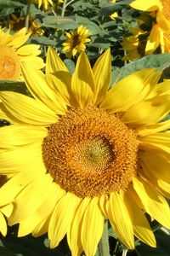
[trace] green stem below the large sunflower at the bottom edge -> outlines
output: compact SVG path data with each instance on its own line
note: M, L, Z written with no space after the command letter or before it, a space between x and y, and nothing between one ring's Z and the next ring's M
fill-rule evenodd
M110 256L107 219L105 219L104 232L98 245L98 256Z

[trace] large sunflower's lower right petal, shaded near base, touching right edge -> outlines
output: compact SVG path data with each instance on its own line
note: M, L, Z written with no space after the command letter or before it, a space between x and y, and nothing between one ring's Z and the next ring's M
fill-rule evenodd
M170 228L170 211L164 197L152 189L151 186L141 178L133 178L133 188L139 195L146 212L155 218L163 226Z

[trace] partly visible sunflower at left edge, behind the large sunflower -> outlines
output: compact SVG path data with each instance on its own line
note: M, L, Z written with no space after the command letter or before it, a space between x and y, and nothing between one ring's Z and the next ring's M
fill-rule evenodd
M28 63L39 69L44 67L42 58L38 57L41 50L37 44L25 44L31 33L26 34L26 28L10 34L10 31L0 29L0 80L21 79L21 65ZM25 44L25 45L23 45Z

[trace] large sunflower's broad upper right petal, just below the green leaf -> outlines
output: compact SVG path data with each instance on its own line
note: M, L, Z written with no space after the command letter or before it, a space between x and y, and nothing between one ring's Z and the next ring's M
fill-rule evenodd
M114 112L127 111L128 108L142 101L148 95L160 75L161 72L156 72L153 68L142 69L128 75L111 87L100 103L100 108Z

